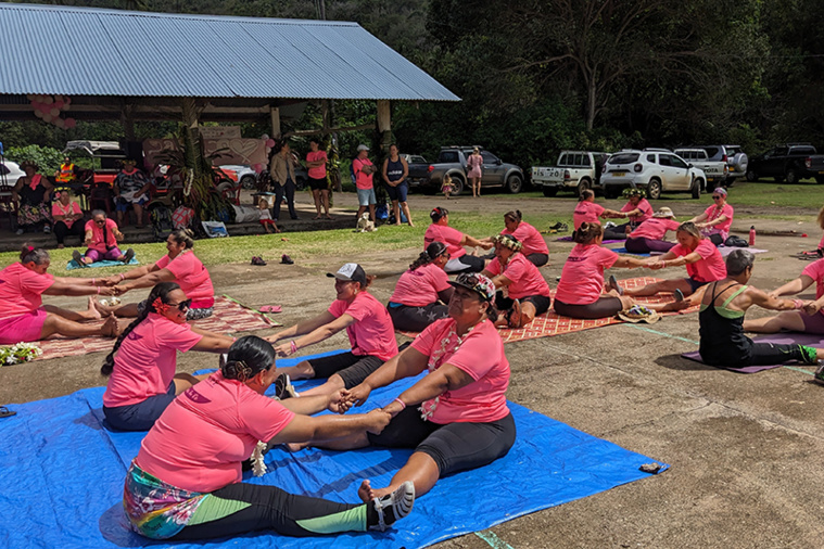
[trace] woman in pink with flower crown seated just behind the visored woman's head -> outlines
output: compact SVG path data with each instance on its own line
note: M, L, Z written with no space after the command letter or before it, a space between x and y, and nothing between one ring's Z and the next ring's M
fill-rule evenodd
M498 290L495 308L507 311L506 318L495 322L496 327L521 328L549 310L549 284L521 253L521 243L511 234L495 237L495 258L481 274L490 277Z

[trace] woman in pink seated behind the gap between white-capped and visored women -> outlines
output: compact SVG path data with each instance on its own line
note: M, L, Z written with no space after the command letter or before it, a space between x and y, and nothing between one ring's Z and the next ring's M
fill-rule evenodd
M449 277L443 270L449 252L443 242L432 242L426 252L401 274L386 309L395 330L420 332L438 319L446 318L452 297Z

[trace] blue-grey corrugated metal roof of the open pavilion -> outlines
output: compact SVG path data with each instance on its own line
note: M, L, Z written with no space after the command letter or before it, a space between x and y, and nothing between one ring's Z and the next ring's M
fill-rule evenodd
M0 94L459 101L355 23L0 3Z

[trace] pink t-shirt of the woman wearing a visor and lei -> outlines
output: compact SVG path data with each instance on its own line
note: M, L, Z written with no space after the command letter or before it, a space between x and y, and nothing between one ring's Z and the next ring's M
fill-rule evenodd
M447 344L444 345L444 340ZM455 320L436 320L418 334L411 346L429 357L430 372L448 363L468 373L474 382L446 391L439 399L427 400L421 410L435 406L430 421L438 424L498 421L509 414L506 390L509 386L509 361L504 342L489 320L476 325L458 346ZM445 350L442 350L445 349Z

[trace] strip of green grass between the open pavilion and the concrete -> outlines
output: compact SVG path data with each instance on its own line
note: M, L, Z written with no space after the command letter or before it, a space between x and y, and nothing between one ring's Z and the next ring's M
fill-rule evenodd
M413 209L413 219L428 219L429 210ZM568 216L554 214L530 215L529 222L536 227L548 227L556 221L572 226L571 213ZM449 225L466 234L482 239L497 234L504 228L500 214L480 212L458 213L451 216ZM307 258L322 256L344 256L357 260L358 255L368 250L420 250L423 233L428 224L419 222L415 227L382 226L375 232L355 233L352 229L330 231L287 232L282 234L253 234L248 237L231 237L228 239L199 240L194 251L204 265L220 265L229 263L249 263L252 256L259 255L267 261L278 261L282 254L289 254L295 260L305 261ZM282 239L286 239L282 240ZM135 248L141 265L156 261L166 254L166 244L131 244L123 246ZM65 265L72 260L72 250L52 250L50 272L58 277L105 277L123 272L123 267L103 267L94 269L75 269L67 271ZM18 253L0 254L0 268L18 260Z

